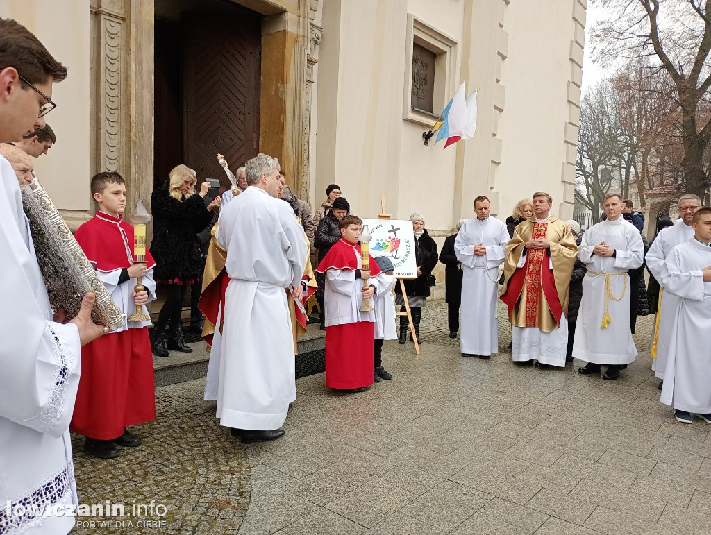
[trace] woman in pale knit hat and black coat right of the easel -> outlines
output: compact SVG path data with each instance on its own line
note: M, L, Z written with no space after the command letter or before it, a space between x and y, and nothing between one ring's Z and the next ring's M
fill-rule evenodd
M415 328L417 342L422 343L419 338L419 322L422 320L422 307L427 306L427 298L430 296L429 288L434 286L432 270L434 266L437 266L437 244L427 234L422 215L412 214L410 215L410 221L412 221L412 229L415 231L417 279L405 279L403 282L405 283L407 301L410 304L412 326ZM395 304L401 306L401 312L405 311L405 299L402 298L400 285L395 286ZM397 338L397 342L400 344L407 342L407 329L409 327L407 316L400 316L400 336Z

